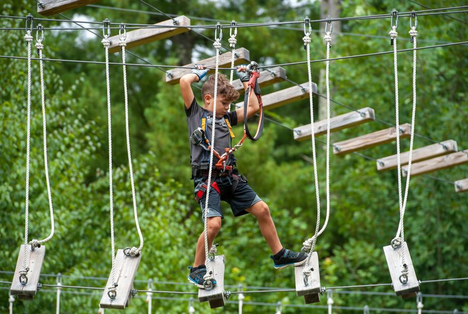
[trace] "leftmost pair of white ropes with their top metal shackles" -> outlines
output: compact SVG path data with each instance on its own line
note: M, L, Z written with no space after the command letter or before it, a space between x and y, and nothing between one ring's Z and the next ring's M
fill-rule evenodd
M29 25L29 26L28 26ZM28 227L29 227L29 161L30 161L30 143L31 143L31 42L33 37L31 32L33 30L33 17L31 14L28 14L26 17L26 35L24 39L28 43L28 83L27 83L27 135L26 135L26 201L25 201L25 225L24 225L24 254L23 254L23 268L19 271L19 280L22 286L25 286L28 283L28 272L29 267L27 267L27 247L28 247ZM46 123L46 112L45 112L45 96L44 96L44 71L42 64L42 49L44 45L42 40L44 39L43 27L41 24L37 26L36 32L36 44L35 47L38 50L39 54L39 71L40 71L40 99L42 107L42 139L43 139L43 149L44 149L44 170L45 170L45 181L47 186L47 198L49 203L49 212L50 212L50 223L51 231L47 238L43 240L33 239L29 242L30 250L34 251L36 248L39 248L41 244L52 239L55 231L55 221L54 221L54 208L52 204L52 195L50 189L49 181L49 166L47 161L47 123Z

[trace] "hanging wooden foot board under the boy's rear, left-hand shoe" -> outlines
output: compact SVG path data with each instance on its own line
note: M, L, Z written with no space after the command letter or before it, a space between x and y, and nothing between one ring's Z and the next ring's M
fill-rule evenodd
M215 256L214 261L208 260L206 269L207 272L213 271L216 285L210 291L199 288L198 300L200 302L209 301L212 309L224 306L224 255Z

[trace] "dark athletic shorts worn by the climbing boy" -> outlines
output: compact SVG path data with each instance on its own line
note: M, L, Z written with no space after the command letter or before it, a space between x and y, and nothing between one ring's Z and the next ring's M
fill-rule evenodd
M234 173L237 174L237 172ZM203 193L203 191L206 191L207 179L207 176L194 178L195 199L197 195L201 196L199 198L198 204L201 208L202 221L204 221L206 202L206 192ZM210 197L208 199L208 217L221 217L221 219L224 218L221 209L221 201L229 203L234 216L242 216L248 214L248 212L245 209L261 201L261 199L257 196L252 187L250 187L247 184L247 181L242 180L239 180L239 183L237 184L234 193L230 195L233 180L234 179L232 177L217 177L214 181L215 185L213 185L212 182L212 186L210 188ZM217 189L214 187L216 185ZM202 192L200 192L200 190ZM201 193L203 193L203 195L201 195Z

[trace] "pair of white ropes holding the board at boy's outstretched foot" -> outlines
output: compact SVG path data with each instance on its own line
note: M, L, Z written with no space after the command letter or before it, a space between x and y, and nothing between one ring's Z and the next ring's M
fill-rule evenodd
M315 242L317 238L325 231L328 225L330 218L330 80L329 80L329 69L330 69L330 42L331 42L331 32L327 32L323 39L327 45L327 62L326 62L326 86L327 86L327 148L326 148L326 197L327 197L327 213L325 222L320 229L320 195L319 195L319 186L318 186L318 176L317 176L317 159L315 153L315 131L314 131L314 122L313 122L313 103L312 103L312 74L310 66L310 42L311 38L309 35L306 35L304 38L304 44L307 46L307 70L309 74L309 98L310 98L310 111L311 111L311 129L312 129L312 159L313 159L313 172L315 180L315 196L317 199L317 222L315 224L315 233L312 238L304 241L303 248L305 251L310 251L310 254L307 258L306 263L311 265L312 252L315 248ZM311 273L310 267L305 267L303 273L308 275Z

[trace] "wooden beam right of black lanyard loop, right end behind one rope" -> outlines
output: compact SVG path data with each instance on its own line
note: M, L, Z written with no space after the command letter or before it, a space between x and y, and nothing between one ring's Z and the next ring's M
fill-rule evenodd
M317 85L312 83L312 92L317 92ZM278 92L272 92L262 96L263 109L273 109L294 101L309 98L309 83L302 83L299 86L292 86ZM244 106L243 102L235 104L236 108Z

